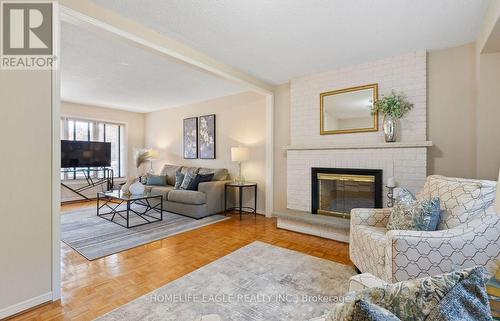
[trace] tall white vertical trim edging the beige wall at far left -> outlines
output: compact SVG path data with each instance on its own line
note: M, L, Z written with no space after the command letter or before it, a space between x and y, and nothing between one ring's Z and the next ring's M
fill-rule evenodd
M53 2L53 54L59 58L52 70L52 292L50 299L61 298L61 24L59 4ZM40 303L37 303L40 304Z

